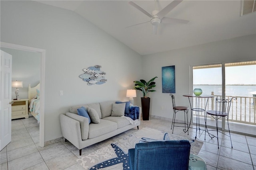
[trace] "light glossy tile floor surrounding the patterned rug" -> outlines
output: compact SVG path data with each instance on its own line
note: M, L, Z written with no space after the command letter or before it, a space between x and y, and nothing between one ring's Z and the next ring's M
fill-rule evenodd
M163 119L150 118L141 121L140 129L151 127L172 133L171 122ZM182 127L174 127L174 133L189 137L196 135L195 129L189 130L189 135L184 133ZM130 129L82 149L82 156L106 146L118 139L137 131ZM198 132L198 140L204 141L204 132ZM34 117L12 121L12 142L0 152L1 170L82 170L76 163L79 150L71 143L60 141L45 147L39 147L39 126ZM207 164L208 170L256 170L256 137L232 133L233 149L230 140L224 136L220 138L220 149L217 139L206 136L206 140L199 156Z

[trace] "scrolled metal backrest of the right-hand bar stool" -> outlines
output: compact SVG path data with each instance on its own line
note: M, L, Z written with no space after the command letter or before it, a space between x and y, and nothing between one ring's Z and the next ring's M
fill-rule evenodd
M230 110L230 106L232 104L232 100L236 100L235 97L231 98L231 99L218 99L216 98L216 114L218 112L218 114L221 115L228 115L229 110Z

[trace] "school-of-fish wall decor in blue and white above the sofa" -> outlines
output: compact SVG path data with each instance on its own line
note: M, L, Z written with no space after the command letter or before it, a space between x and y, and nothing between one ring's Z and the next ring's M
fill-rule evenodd
M107 81L107 79L105 78L106 72L101 71L100 68L100 65L84 68L84 73L80 74L79 78L82 78L83 81L87 82L88 86L95 84L104 84Z

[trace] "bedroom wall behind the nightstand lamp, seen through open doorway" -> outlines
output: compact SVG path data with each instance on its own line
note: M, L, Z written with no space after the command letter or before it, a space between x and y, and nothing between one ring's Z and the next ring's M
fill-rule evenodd
M1 47L1 50L12 55L12 81L22 81L23 88L18 88L20 99L28 98L28 86L40 82L40 54ZM12 99L16 99L16 88L12 88Z

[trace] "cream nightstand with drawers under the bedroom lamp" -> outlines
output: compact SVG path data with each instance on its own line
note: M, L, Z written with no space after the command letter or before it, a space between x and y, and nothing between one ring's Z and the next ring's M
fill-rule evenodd
M12 119L28 118L28 99L12 100Z

